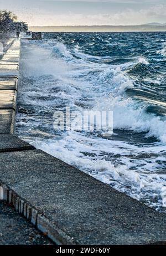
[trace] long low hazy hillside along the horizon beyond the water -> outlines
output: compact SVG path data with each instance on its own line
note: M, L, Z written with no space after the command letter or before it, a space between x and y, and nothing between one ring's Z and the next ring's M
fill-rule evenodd
M51 27L29 27L32 31L38 32L166 32L166 23L151 23L133 26L51 26Z

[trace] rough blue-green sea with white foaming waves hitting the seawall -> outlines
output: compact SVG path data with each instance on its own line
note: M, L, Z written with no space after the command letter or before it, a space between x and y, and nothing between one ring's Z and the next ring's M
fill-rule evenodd
M166 33L43 33L22 41L16 132L166 211ZM54 112L113 111L113 135L54 129Z

